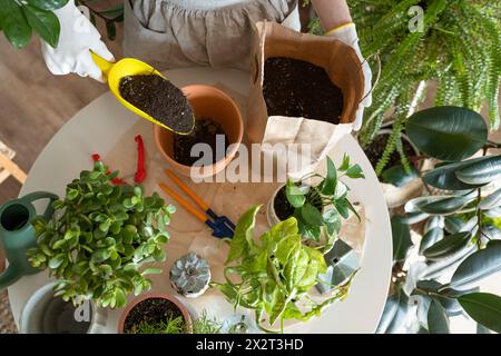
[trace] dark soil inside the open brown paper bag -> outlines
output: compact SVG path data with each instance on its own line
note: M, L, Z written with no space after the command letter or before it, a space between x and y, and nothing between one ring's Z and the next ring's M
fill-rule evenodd
M263 95L268 116L340 123L343 112L341 89L323 68L303 60L268 58L264 66Z

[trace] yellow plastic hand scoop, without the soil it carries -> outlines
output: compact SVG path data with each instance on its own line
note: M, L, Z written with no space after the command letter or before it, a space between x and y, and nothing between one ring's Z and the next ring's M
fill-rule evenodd
M144 61L140 61L135 58L124 58L120 59L117 62L109 62L106 59L99 57L98 55L91 52L92 59L96 62L96 65L101 69L102 75L108 78L108 85L109 89L114 93L114 96L120 101L122 106L125 106L127 109L132 111L134 113L140 116L141 118L147 119L148 121L151 121L158 126L161 126L163 128L170 130L177 135L188 135L193 127L195 126L195 116L193 117L193 126L191 130L188 132L178 132L174 130L173 128L161 123L160 121L156 120L145 111L138 109L130 102L128 102L126 99L124 99L120 95L120 79L128 76L140 76L140 75L156 75L164 79L167 79L163 73L160 73L158 70L153 68L151 66L145 63Z

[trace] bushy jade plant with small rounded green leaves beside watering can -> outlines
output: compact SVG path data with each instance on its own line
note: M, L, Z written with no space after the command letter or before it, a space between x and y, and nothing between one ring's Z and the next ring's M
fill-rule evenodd
M122 307L129 294L150 288L148 274L161 271L141 266L165 260L175 207L157 192L145 196L141 186L112 185L117 175L97 161L53 202L52 218L33 220L38 246L28 251L29 260L59 279L56 295L65 300Z

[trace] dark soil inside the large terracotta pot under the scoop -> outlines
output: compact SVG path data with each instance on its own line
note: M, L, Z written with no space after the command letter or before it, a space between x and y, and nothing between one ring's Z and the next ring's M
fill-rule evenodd
M224 151L217 150L217 140L224 136ZM219 138L218 138L219 136ZM207 144L210 146L213 160L212 164L222 160L226 156L228 148L228 138L223 127L208 118L199 118L195 120L195 128L188 135L174 136L174 159L185 166L193 166L200 157L191 157L191 147L196 144ZM219 145L220 146L220 145ZM206 158L204 156L204 158Z

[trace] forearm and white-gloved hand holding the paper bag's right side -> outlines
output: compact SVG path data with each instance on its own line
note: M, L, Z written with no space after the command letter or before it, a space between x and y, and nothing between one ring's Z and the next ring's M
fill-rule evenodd
M363 58L358 47L358 36L356 33L355 23L352 22L350 9L345 0L312 0L316 13L321 20L322 27L326 31L326 36L331 36L348 46L351 46L362 62L365 86L362 102L356 110L356 119L353 128L358 130L362 127L364 108L372 103L372 71L369 62Z

